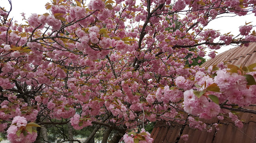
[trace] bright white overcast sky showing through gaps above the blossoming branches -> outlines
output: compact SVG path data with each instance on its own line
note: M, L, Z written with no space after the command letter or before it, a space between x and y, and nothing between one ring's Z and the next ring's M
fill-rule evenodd
M50 2L50 0L11 0L11 2L12 11L9 15L9 18L17 20L18 23L26 24L24 23L24 21L22 21L21 13L25 13L26 18L28 18L33 13L49 13L49 10L46 10L45 8L45 4L47 2ZM90 0L86 0L86 3L88 2L90 2ZM136 1L136 5L139 5L140 3L141 0ZM8 0L0 0L0 6L5 7L7 11L9 11L10 9ZM183 17L182 14L179 15ZM225 15L225 17L216 18L215 20L211 21L206 27L204 27L204 29L219 30L221 34L231 32L230 34L236 36L239 34L239 26L245 25L245 22L252 22L249 25L256 25L256 18L254 14L234 17L228 17L227 15ZM219 50L217 50L217 52L221 53L236 46L237 45L222 46Z

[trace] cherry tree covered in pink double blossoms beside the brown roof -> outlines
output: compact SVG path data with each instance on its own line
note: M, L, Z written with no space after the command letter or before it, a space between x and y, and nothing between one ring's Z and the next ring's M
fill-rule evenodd
M256 114L246 108L256 104L256 64L185 64L206 48L214 58L222 45L256 42L249 23L237 36L205 28L256 14L255 0L52 0L49 13L22 14L26 25L0 6L0 132L11 143L40 142L43 126L64 124L93 125L86 143L104 129L103 143L150 143L152 121L210 131L201 118L242 127L231 111Z

